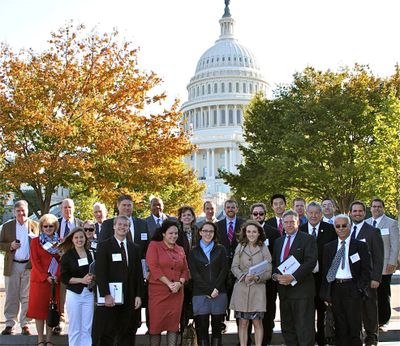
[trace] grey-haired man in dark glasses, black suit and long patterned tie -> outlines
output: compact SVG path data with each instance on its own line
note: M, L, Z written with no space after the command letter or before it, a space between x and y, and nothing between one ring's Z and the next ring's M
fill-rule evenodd
M351 239L350 218L335 218L339 240L325 245L321 299L332 306L336 345L361 346L361 306L369 286L371 258L367 244Z

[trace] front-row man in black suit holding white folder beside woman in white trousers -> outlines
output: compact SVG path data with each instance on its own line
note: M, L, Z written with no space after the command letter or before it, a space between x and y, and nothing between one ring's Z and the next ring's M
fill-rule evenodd
M100 242L96 253L96 282L104 306L94 317L94 343L101 346L134 346L143 297L143 274L138 245L127 239L129 218L114 218L114 235ZM116 304L110 283L122 283L122 304ZM133 327L132 327L133 326Z

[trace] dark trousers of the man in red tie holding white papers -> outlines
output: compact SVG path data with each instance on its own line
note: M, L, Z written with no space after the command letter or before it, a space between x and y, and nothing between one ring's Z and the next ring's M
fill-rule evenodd
M282 335L287 346L315 345L314 297L280 299Z

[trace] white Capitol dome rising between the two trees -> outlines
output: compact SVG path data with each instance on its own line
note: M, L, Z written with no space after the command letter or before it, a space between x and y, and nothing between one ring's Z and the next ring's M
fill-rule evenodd
M255 56L234 37L235 20L225 1L215 44L200 57L182 105L184 124L197 146L186 163L205 182L204 198L220 205L230 192L219 171L236 173L242 162L243 111L255 93L266 93L267 82Z

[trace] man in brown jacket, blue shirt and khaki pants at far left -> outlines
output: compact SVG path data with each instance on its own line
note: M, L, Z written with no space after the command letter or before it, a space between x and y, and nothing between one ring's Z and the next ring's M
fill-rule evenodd
M29 244L39 234L37 222L28 219L28 202L17 201L14 205L15 220L4 224L0 233L0 250L4 256L4 282L6 300L4 316L6 328L2 335L13 334L18 312L21 333L30 335L26 312L29 300L31 263Z

